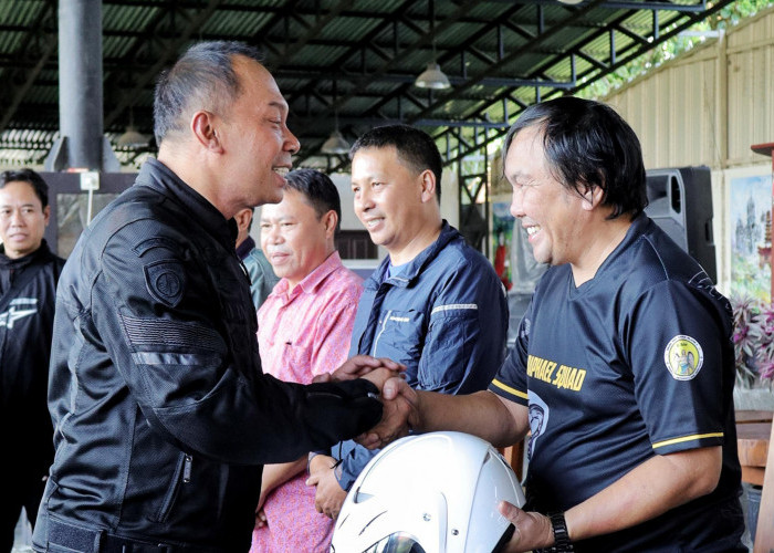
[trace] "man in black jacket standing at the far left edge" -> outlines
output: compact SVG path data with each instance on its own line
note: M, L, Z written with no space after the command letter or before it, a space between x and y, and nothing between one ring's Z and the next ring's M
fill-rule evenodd
M64 260L43 239L49 187L31 169L0 174L0 441L7 478L0 492L0 553L11 551L23 507L35 521L49 466L45 408L56 281Z

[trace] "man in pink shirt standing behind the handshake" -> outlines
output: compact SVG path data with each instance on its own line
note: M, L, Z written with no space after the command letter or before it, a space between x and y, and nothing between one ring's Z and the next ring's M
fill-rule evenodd
M264 372L307 384L347 359L363 280L336 251L334 184L312 169L286 178L282 201L261 211L261 248L281 280L258 311L258 342ZM251 553L328 551L333 521L315 510L305 469L306 457L263 468Z

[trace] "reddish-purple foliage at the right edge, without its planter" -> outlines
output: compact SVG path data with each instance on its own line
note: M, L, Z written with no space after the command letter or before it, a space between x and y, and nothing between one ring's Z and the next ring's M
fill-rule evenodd
M774 306L752 298L732 298L736 384L774 383Z

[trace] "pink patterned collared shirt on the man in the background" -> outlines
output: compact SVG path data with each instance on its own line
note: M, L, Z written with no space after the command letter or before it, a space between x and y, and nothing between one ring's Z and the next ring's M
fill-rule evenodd
M307 384L347 358L363 279L332 253L289 292L282 279L258 311L258 345L264 373ZM327 552L333 521L314 509L314 487L302 472L263 504L266 525L253 531L251 553Z

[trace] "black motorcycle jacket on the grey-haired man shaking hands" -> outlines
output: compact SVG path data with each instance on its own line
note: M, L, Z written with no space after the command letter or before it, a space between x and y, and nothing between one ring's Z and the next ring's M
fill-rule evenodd
M262 374L234 239L234 221L157 160L84 230L56 300L56 455L35 547L54 519L170 551L248 551L260 465L379 419L366 380Z

